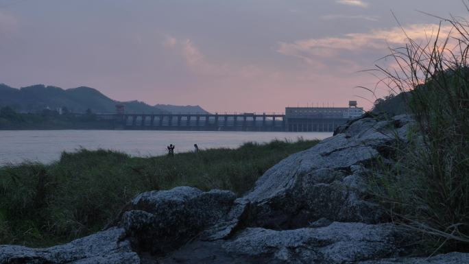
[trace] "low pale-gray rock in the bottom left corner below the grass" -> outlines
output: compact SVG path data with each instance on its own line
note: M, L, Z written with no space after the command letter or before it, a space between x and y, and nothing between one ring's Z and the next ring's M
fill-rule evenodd
M0 245L1 264L139 264L139 256L125 239L125 230L103 232L52 248L32 249L19 245Z

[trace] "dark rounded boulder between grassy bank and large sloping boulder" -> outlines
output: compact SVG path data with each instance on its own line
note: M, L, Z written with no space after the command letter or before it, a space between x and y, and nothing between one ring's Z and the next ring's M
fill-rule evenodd
M192 187L149 191L132 200L119 226L125 229L134 248L165 254L215 224L237 224L234 217L229 218L235 199L230 191L203 192Z

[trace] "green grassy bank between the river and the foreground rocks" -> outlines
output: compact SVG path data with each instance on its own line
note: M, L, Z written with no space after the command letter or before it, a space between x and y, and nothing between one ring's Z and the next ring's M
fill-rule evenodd
M143 191L189 185L241 195L267 169L317 142L245 143L151 158L82 149L51 165L1 167L0 244L47 246L88 235Z

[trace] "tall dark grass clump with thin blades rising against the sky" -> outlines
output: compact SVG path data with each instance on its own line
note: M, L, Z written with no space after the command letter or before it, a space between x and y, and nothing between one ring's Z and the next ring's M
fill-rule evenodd
M404 33L405 30L403 29ZM434 252L469 250L469 23L442 19L426 41L391 49L381 84L406 95L418 131L396 165L376 173L376 195Z

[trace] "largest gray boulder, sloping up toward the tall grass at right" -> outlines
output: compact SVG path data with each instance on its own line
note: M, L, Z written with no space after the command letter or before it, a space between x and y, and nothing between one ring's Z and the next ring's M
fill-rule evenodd
M365 199L366 167L387 158L406 141L407 116L391 121L364 118L311 149L269 169L243 197L250 202L252 226L298 228L326 217L331 221L384 221L380 206Z

